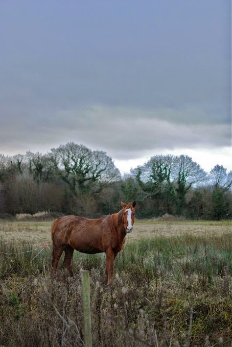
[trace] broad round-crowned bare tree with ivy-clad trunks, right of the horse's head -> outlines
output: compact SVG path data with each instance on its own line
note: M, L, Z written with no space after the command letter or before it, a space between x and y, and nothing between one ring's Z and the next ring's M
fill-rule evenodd
M147 197L158 201L161 212L174 211L176 205L178 214L183 212L188 190L207 177L200 165L187 155L155 155L131 173Z

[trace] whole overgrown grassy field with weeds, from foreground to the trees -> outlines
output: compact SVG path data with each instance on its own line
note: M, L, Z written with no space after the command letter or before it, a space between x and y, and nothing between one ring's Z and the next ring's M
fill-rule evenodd
M232 346L231 223L136 221L112 288L103 254L50 278L50 225L0 223L0 346L82 346L81 269L93 346Z

